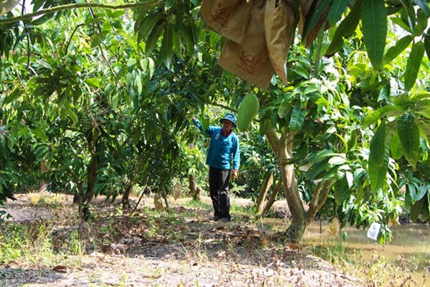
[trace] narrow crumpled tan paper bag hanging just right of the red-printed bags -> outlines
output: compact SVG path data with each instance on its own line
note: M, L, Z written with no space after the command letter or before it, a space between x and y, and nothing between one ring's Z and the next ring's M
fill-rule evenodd
M294 33L294 7L289 0L266 0L264 29L270 62L276 74L286 81L286 61Z

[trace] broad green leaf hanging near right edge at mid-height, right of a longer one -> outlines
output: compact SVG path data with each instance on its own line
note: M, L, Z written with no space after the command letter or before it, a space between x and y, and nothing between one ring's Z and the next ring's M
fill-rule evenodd
M399 117L397 121L397 132L402 143L404 157L415 167L420 158L420 130L415 124L415 117L406 114Z

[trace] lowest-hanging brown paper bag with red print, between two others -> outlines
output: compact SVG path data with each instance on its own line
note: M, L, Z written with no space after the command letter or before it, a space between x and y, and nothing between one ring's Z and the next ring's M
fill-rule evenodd
M218 65L242 79L267 90L273 76L264 32L264 2L254 0L246 35L241 44L227 40Z

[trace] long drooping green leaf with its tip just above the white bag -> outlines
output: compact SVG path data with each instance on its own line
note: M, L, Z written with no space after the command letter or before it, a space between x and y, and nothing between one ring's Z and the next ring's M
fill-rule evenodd
M370 188L377 192L384 185L388 171L389 149L386 147L386 124L382 122L370 141L370 154L368 163L368 174Z

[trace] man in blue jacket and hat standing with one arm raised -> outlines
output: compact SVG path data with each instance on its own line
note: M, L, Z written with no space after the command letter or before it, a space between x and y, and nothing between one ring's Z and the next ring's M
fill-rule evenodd
M196 117L192 117L192 120L203 131L200 121ZM214 220L229 222L232 219L228 196L230 169L233 167L232 177L236 179L240 163L239 139L232 132L236 127L236 117L232 113L227 113L220 122L223 127L209 126L205 131L211 137L206 164L209 165L209 190L214 206Z

